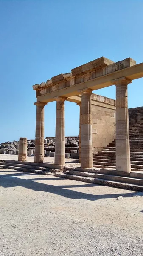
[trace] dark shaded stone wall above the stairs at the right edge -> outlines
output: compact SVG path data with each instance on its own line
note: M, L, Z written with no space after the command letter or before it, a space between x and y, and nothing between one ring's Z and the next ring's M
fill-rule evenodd
M129 126L143 118L143 107L129 108Z

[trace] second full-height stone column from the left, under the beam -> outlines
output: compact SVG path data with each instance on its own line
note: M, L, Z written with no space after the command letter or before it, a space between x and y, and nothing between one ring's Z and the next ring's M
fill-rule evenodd
M65 132L64 132L64 101L67 98L56 98L56 138L55 138L55 164L65 164Z

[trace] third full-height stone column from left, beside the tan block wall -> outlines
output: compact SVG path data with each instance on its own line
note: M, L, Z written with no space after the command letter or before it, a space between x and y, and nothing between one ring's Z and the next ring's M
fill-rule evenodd
M91 93L81 90L81 168L93 167Z

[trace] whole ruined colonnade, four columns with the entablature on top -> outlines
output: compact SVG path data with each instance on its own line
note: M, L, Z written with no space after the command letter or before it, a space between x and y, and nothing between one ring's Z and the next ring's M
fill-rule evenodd
M56 101L55 165L65 164L64 102L75 102L80 108L79 151L81 168L93 166L92 91L116 86L115 134L116 170L130 172L128 84L143 77L143 63L132 58L113 62L105 57L73 68L70 73L59 74L46 82L36 84L36 163L44 161L44 107ZM132 85L131 85L132 86ZM110 102L108 103L110 105Z

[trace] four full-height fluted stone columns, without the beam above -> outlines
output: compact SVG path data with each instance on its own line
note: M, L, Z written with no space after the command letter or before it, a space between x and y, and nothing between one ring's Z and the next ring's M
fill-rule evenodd
M129 117L127 86L132 81L125 77L112 81L116 86L116 170L130 172L129 149ZM90 88L80 90L80 127L79 127L79 152L81 168L93 167L92 153L92 116ZM65 128L64 128L64 96L55 97L56 100L56 139L55 139L55 165L62 168L65 164ZM35 158L36 163L44 162L44 107L45 102L36 102L36 138Z

